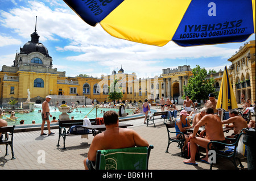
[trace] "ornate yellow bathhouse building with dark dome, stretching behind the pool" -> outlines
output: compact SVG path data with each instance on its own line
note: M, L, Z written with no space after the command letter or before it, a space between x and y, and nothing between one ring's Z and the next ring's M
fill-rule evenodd
M159 102L163 96L174 98L182 104L183 86L187 86L192 69L189 65L179 66L175 69L163 69L162 74L153 78L137 78L136 73L127 74L124 70L113 70L110 75L97 77L68 77L65 71L52 68L52 57L48 49L39 43L39 35L35 31L31 34L31 41L20 48L16 53L13 66L2 66L0 71L0 104L5 105L10 99L26 102L27 90L30 91L30 101L42 103L47 95L52 95L52 102L56 104L78 103L88 105L93 102L110 102L108 99L109 86L114 81L118 83L123 92L122 101L125 102ZM255 101L255 41L250 41L240 48L236 55L229 58L232 62L229 75L233 83L237 102L239 95L244 92L246 98ZM215 79L216 91L221 85L222 72L208 75ZM235 83L250 80L250 86L236 89Z

